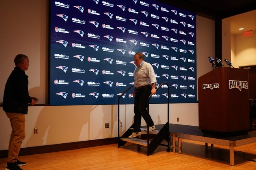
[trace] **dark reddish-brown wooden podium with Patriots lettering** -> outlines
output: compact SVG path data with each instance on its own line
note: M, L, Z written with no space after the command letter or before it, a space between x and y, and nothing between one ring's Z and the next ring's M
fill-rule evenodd
M248 70L220 67L198 78L198 121L204 134L249 132L248 77Z

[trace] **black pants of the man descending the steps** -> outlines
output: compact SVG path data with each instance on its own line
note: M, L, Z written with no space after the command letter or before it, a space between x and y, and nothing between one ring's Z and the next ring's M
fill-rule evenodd
M141 116L147 125L152 127L154 122L148 114L148 97L151 94L151 86L145 86L136 90L134 98L134 132L141 132Z

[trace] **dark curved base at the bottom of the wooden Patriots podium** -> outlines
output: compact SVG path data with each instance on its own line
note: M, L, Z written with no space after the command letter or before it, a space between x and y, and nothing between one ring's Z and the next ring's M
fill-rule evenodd
M249 132L249 129L246 130L238 130L234 132L218 132L213 130L203 130L201 129L203 134L205 135L212 135L212 136L219 136L219 137L232 137L232 136L240 136L240 135L246 135Z

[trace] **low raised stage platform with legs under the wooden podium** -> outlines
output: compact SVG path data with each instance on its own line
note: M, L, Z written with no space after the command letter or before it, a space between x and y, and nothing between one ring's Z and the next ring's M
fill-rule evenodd
M218 137L203 134L197 126L189 125L170 124L170 134L172 138L171 149L173 152L176 152L177 149L179 154L182 153L182 139L204 142L207 146L210 143L211 147L213 147L213 144L229 146L231 166L235 165L234 150L236 146L256 142L256 132L248 132L248 134L240 136ZM178 145L176 145L176 141L178 141Z

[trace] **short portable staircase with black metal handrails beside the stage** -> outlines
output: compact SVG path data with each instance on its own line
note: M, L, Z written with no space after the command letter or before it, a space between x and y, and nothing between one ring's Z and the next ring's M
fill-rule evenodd
M147 156L152 154L156 148L159 145L167 146L167 152L170 152L170 133L169 133L169 84L168 83L162 83L159 85L159 87L156 89L156 91L163 85L166 84L168 87L168 98L167 98L167 123L165 125L155 125L156 130L153 131L145 131L147 126L141 127L142 134L136 138L128 138L133 132L133 125L124 132L124 134L120 137L120 125L118 126L118 147L124 146L127 142L128 143L134 143L137 145L142 145L147 147ZM130 86L126 91L122 93L124 95L128 90L130 90L134 85ZM118 122L120 123L120 98L118 99ZM152 95L148 97L148 101ZM149 102L148 102L148 112L149 112ZM163 140L167 141L167 145L162 144Z

